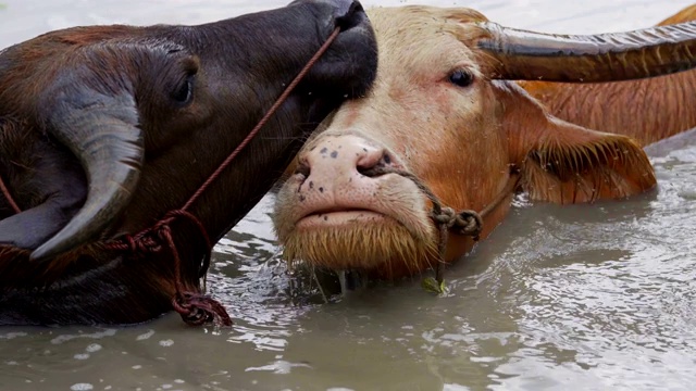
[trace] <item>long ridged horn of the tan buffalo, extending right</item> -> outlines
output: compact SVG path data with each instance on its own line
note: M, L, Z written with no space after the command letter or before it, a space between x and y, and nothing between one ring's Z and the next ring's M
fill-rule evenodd
M646 78L696 65L696 22L630 33L568 36L481 23L492 78L595 83Z

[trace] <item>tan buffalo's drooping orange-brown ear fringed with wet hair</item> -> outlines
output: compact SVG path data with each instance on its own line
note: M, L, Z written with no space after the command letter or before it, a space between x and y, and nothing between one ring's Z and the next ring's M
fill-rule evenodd
M510 163L520 168L532 200L592 202L655 187L652 166L633 139L556 118L514 84L492 85L505 108Z

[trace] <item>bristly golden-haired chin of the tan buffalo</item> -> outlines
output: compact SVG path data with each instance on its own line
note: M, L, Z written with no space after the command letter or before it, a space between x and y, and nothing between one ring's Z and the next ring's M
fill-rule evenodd
M390 217L338 226L298 224L284 240L283 258L332 270L360 270L396 279L420 274L437 262L436 236L419 240Z

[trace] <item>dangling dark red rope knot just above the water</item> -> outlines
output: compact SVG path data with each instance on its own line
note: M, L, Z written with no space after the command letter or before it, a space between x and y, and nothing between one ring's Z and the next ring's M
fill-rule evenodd
M225 307L206 294L177 292L172 298L172 306L182 319L191 326L200 326L215 319L223 326L232 326L232 319Z

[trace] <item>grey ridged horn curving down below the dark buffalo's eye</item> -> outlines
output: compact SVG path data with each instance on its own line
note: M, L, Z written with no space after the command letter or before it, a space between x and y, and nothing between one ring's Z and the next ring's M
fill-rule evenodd
M89 190L79 212L30 257L49 258L98 236L123 211L135 191L145 159L135 101L129 94L94 91L57 97L49 133L80 161Z

